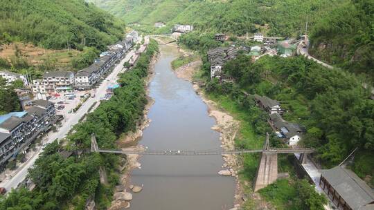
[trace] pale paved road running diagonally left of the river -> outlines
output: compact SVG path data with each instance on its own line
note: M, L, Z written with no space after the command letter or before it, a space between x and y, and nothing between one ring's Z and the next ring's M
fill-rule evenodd
M69 120L64 122L64 124L59 129L59 131L57 131L56 133L49 133L48 134L48 140L47 140L48 143L51 143L56 139L60 140L64 137L66 137L66 134L69 133L70 129L75 124L78 123L80 118L85 113L87 113L89 107L91 107L94 104L94 102L99 102L100 97L104 97L104 95L106 93L107 85L110 84L111 82L116 82L118 73L120 73L121 70L123 70L123 64L126 61L130 61L130 57L132 57L134 55L135 55L135 50L134 49L131 50L129 53L127 53L125 58L122 59L122 61L114 68L114 70L107 77L107 79L105 79L102 82L102 84L100 84L100 86L96 89L95 97L90 97L89 99L87 99L87 101L80 107L80 109L75 113L75 115L71 116L69 118ZM107 81L107 80L109 80L109 81ZM7 191L9 191L12 188L17 188L18 184L26 178L28 169L30 169L30 167L33 166L35 160L37 160L37 158L39 157L39 154L41 152L42 152L42 149L37 151L37 153L35 153L35 155L33 155L33 157L30 158L24 164L24 166L22 166L21 169L19 169L17 174L14 175L12 178L7 178L6 180L3 180L3 182L0 183L0 187L5 187Z

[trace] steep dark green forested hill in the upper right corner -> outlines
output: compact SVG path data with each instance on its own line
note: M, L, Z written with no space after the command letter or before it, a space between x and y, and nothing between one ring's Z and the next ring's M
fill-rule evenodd
M312 28L311 52L374 81L374 1L344 0Z

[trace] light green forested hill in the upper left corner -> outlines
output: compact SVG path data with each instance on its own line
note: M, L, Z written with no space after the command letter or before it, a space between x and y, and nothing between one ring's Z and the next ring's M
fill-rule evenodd
M104 49L123 36L123 22L83 0L0 1L0 44Z

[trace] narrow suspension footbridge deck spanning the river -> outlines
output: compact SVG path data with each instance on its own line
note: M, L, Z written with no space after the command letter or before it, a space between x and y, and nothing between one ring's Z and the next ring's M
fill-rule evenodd
M314 149L269 149L269 152L276 153L313 153ZM120 151L111 149L98 149L99 153L137 154L137 155L223 155L223 154L244 154L261 153L262 149L235 150L235 151Z

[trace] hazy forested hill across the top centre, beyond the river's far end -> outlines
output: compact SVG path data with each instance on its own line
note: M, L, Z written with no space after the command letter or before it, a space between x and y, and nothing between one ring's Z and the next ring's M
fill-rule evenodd
M87 0L127 23L139 23L152 31L153 24L167 24L157 32L168 32L174 23L193 24L195 29L234 35L265 32L267 35L299 35L305 26L336 0Z

